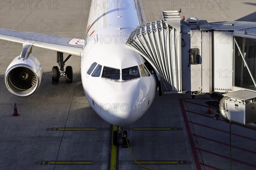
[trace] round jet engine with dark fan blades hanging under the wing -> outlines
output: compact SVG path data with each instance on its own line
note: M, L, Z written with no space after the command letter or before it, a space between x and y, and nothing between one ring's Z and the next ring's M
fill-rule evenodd
M26 58L17 56L6 70L6 87L20 97L32 95L38 89L42 75L42 64L35 56L31 53Z

